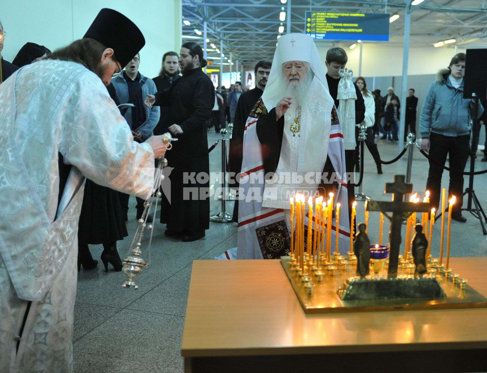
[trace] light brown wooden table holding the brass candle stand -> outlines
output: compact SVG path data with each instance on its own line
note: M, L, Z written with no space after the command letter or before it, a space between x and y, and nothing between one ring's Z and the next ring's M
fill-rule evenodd
M487 296L487 258L450 267ZM194 261L185 372L486 372L487 308L304 314L280 261Z

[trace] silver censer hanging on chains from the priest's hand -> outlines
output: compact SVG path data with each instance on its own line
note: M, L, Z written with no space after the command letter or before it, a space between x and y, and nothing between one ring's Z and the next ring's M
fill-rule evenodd
M172 148L171 141L177 140L178 139L173 138L169 132L166 132L162 135L162 141L164 141L168 150ZM157 201L162 196L162 193L159 190L161 183L164 180L162 169L168 165L168 160L166 158L159 157L158 160L159 162L157 164L157 168L155 169L154 175L154 191L152 195L144 202L144 212L142 213L142 217L138 221L139 224L133 236L133 240L130 244L129 253L127 257L122 261L122 271L129 277L129 280L126 280L122 285L126 288L133 287L134 289L138 289L139 286L133 281L133 278L135 276L139 276L149 265L150 244L152 243L152 233L154 226L153 224L147 224L146 222L150 212L152 212L152 216L155 217L155 213L157 211ZM146 229L150 231L150 239L149 247L147 249L147 258L146 260L144 260L141 257L142 251L140 251L140 247L142 246L142 237L144 237L144 232Z

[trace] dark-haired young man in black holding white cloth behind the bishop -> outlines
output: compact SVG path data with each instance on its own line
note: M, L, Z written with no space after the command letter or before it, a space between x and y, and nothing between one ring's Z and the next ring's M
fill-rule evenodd
M330 95L335 101L335 106L338 109L340 101L337 100L338 94L338 83L340 82L340 75L338 72L340 69L344 69L347 64L348 57L342 48L330 48L326 53L325 65L327 67L326 81L328 82L328 89L330 90ZM355 100L355 124L360 124L365 118L365 102L362 93L358 89L357 85L354 83L355 93L357 99ZM343 120L342 120L343 121ZM355 141L357 144L356 149L345 150L345 169L347 172L354 172L355 163L357 160L357 149L358 149L358 127L355 128ZM362 166L363 167L363 166ZM355 201L355 191L354 186L351 183L347 183L348 190L348 215L351 219L352 217L352 204ZM355 223L354 223L355 224Z

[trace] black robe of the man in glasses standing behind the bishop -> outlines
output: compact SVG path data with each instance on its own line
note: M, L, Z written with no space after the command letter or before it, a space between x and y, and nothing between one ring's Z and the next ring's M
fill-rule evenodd
M233 120L232 138L230 139L230 147L228 150L228 172L233 172L237 175L242 169L242 146L244 144L244 128L247 122L248 114L254 108L255 104L261 98L262 91L259 87L255 87L249 91L245 91L240 95L237 109L235 110L235 119ZM229 180L231 188L238 188L239 184L234 178ZM238 223L239 215L239 201L235 200L233 205L233 221Z

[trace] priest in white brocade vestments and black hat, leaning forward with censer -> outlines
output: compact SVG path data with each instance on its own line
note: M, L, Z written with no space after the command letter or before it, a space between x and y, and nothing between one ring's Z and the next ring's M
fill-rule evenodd
M0 86L0 372L72 372L84 177L148 198L161 137L138 144L106 85L144 46L102 9L85 37Z

